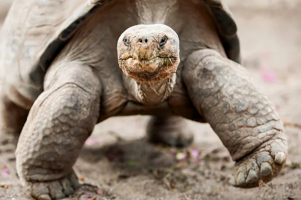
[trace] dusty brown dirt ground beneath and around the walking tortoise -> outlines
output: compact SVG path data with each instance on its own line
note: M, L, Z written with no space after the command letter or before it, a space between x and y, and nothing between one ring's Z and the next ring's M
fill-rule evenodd
M7 0L1 1L4 16ZM234 163L208 124L190 122L195 143L174 149L145 141L148 116L115 117L95 127L75 164L81 182L98 189L84 185L66 200L301 199L301 127L294 124L301 123L301 4L233 1L244 65L285 124L289 155L280 175L260 188L232 187L228 180ZM17 179L15 160L4 161L10 153L0 156L0 199L30 200Z

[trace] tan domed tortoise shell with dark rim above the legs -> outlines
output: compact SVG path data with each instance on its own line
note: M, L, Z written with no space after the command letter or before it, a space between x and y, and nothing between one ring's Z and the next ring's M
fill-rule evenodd
M0 79L34 100L47 68L79 25L111 0L14 0L0 31ZM203 0L213 14L229 59L240 63L237 26L221 0Z

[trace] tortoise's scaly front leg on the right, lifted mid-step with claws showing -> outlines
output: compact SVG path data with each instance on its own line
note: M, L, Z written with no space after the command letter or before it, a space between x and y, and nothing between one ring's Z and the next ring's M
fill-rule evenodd
M202 49L188 57L183 76L194 105L236 161L232 184L255 187L275 177L287 155L283 125L245 68Z

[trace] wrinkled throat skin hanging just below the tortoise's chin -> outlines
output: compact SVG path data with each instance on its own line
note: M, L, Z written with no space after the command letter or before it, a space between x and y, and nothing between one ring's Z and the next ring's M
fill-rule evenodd
M139 83L128 76L124 76L125 87L134 100L150 105L165 100L173 91L176 84L176 73L155 83Z

